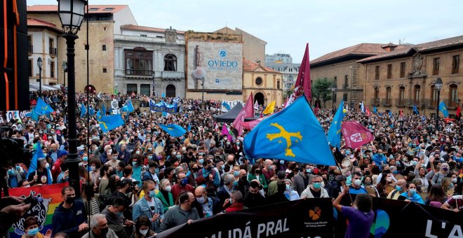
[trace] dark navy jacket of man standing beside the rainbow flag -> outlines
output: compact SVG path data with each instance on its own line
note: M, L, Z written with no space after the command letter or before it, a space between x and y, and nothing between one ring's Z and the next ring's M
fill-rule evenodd
M78 232L79 225L87 222L87 214L83 202L75 200L70 209L62 207L63 203L61 202L53 213L53 235L58 232L65 232L69 237L81 237L85 231Z

